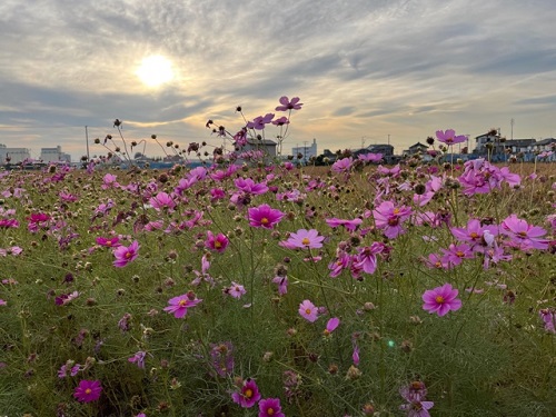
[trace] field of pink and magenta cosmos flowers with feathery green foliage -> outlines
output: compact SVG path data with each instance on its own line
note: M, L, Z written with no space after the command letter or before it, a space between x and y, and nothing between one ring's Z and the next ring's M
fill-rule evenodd
M552 415L554 165L295 162L1 172L0 415Z

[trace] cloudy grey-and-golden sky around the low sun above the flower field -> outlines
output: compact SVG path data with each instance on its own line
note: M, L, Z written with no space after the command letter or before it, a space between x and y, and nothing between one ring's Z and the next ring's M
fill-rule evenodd
M401 153L448 128L471 148L490 128L555 137L555 22L554 0L2 0L0 143L78 160L88 136L106 155L93 139L118 137L118 118L149 156L151 135L217 147L208 119L236 132L237 106L285 116L282 96L304 103L284 153L314 138L319 153L388 139ZM137 75L151 56L173 71L158 87Z

